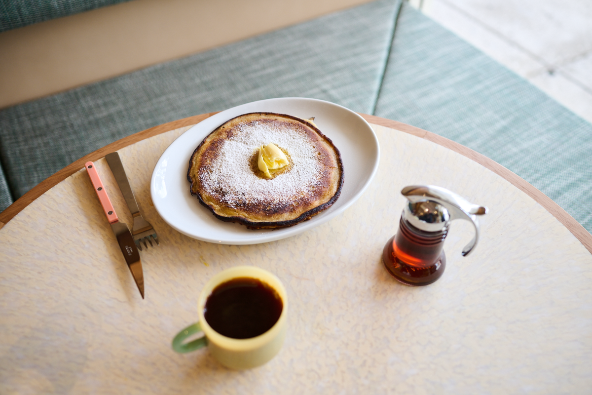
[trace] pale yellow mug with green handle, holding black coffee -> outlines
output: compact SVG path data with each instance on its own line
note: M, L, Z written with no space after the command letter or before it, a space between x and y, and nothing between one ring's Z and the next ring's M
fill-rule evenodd
M263 286L269 287L275 297L279 297L281 300L281 313L275 324L260 335L250 338L233 338L222 335L212 328L205 319L205 307L208 300L211 301L210 296L213 295L213 291L226 286L225 284L242 279L254 279ZM205 284L197 301L197 309L199 321L181 330L173 339L172 346L176 352L190 352L208 346L218 362L226 367L240 370L265 364L274 358L282 348L286 335L288 295L282 282L264 269L255 266L236 266L218 273ZM209 307L209 309L208 315L211 317L213 307ZM204 336L184 343L185 339L198 332L203 332ZM220 330L220 332L224 332L224 330Z

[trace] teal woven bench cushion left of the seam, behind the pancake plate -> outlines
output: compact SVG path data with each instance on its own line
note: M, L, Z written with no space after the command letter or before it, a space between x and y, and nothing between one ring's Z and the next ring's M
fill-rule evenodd
M0 111L14 198L121 137L274 97L370 113L400 0L381 0Z

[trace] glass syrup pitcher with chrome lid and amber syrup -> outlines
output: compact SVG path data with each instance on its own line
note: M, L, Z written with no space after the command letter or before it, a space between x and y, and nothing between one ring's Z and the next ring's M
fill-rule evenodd
M384 246L382 263L404 284L432 284L446 268L443 246L450 222L464 219L475 226L475 236L462 250L462 256L466 256L477 245L477 216L487 214L487 207L471 204L434 185L411 185L403 188L401 194L408 204L403 208L397 234Z

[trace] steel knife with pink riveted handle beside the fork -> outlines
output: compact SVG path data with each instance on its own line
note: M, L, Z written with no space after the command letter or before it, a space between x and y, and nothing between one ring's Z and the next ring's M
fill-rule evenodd
M91 179L92 186L95 187L96 196L99 198L103 210L105 211L105 216L107 216L107 220L111 225L111 230L113 230L113 233L115 234L121 253L123 253L123 257L126 259L127 267L130 268L131 275L134 277L134 281L136 281L136 285L138 286L140 295L143 299L144 274L142 272L140 253L134 242L134 237L131 235L130 228L127 224L120 221L117 217L115 208L113 208L109 195L107 195L107 191L105 191L101 178L96 171L95 164L92 162L86 162L85 167L86 172Z

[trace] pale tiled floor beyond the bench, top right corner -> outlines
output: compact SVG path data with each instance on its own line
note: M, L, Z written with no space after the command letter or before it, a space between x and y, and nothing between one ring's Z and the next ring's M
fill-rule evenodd
M592 2L412 0L410 4L592 122Z

